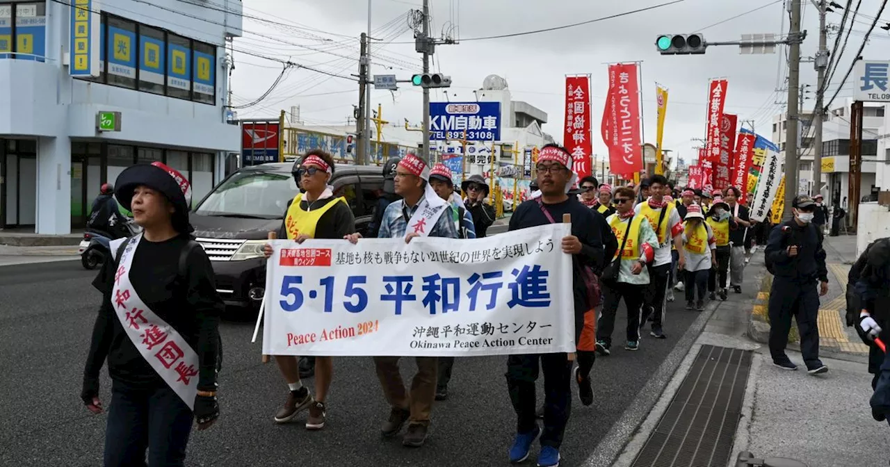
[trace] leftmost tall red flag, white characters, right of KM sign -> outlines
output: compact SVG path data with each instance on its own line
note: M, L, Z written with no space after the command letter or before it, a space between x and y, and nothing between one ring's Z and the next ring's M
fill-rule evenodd
M590 141L590 78L565 78L565 135L563 142L572 158L572 172L578 180L592 172L590 155L594 152Z

